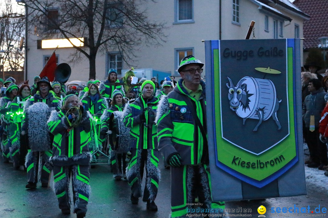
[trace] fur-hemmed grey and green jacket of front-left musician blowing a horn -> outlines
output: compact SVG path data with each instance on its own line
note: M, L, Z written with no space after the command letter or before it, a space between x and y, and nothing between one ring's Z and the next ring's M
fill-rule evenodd
M50 161L56 166L68 166L73 164L89 165L91 154L89 132L94 128L91 122L91 114L84 111L78 126L69 126L66 111L53 110L47 122L49 131L54 135L52 143L52 157Z

